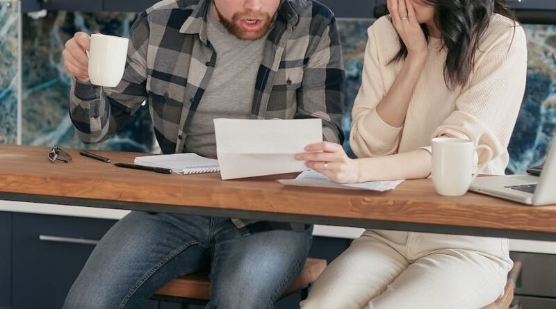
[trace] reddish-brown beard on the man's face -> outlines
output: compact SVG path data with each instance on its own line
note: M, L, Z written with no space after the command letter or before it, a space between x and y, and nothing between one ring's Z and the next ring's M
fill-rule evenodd
M268 31L272 28L272 23L274 22L275 17L270 17L268 13L236 13L230 19L226 19L222 14L220 14L220 10L216 7L214 3L214 8L216 10L216 14L218 14L218 19L220 19L220 23L226 30L235 35L240 40L247 40L247 41L256 41L259 40L261 37L265 36ZM244 31L238 22L241 19L259 19L263 22L263 26L255 32Z

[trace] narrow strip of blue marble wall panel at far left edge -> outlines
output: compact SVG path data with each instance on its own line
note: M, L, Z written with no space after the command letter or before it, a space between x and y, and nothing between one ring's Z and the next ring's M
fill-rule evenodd
M0 1L0 144L17 142L19 2Z

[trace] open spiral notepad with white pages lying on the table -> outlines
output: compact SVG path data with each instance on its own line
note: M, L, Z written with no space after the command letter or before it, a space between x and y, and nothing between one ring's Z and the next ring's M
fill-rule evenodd
M175 153L170 155L142 156L133 160L136 165L164 167L177 174L199 174L220 172L218 160L204 158L196 153Z

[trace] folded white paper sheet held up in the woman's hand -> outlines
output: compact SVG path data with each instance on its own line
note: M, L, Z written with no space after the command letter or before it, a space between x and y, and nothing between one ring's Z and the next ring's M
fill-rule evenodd
M214 119L222 180L301 172L295 160L308 144L322 142L321 119Z

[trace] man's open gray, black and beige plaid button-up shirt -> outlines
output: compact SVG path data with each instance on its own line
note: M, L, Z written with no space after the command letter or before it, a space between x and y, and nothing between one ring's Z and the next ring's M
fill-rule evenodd
M187 151L188 125L217 56L206 37L210 8L210 0L156 3L131 27L120 85L103 90L74 80L70 117L83 142L106 140L147 100L163 153ZM282 0L256 76L252 119L318 117L323 138L341 144L344 79L332 12L316 1Z

